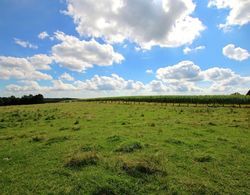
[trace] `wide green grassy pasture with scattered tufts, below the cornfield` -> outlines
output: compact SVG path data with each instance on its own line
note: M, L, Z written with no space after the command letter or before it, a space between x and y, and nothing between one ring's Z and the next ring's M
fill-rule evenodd
M0 194L250 194L246 108L0 108Z

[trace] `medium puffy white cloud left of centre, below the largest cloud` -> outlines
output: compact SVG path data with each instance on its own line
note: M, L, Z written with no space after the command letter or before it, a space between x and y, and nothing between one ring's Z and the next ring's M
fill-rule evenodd
M74 71L85 71L93 65L111 66L124 60L124 57L116 53L111 45L100 44L94 39L81 41L63 32L56 32L55 38L61 43L52 47L54 60Z

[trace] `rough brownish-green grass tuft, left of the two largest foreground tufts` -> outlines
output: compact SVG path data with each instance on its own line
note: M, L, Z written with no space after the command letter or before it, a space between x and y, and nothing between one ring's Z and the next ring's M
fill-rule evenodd
M76 153L66 160L64 166L79 169L86 166L96 165L99 157L95 152Z

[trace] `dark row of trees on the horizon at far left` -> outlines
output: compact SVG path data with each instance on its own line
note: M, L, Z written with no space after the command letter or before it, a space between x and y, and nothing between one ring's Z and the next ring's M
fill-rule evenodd
M0 106L8 105L24 105L24 104L41 104L44 103L42 94L38 95L24 95L21 98L11 97L0 97Z

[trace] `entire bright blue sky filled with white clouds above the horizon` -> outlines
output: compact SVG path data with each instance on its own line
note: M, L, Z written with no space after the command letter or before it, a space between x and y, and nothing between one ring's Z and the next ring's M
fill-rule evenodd
M250 89L250 0L0 0L0 96Z

